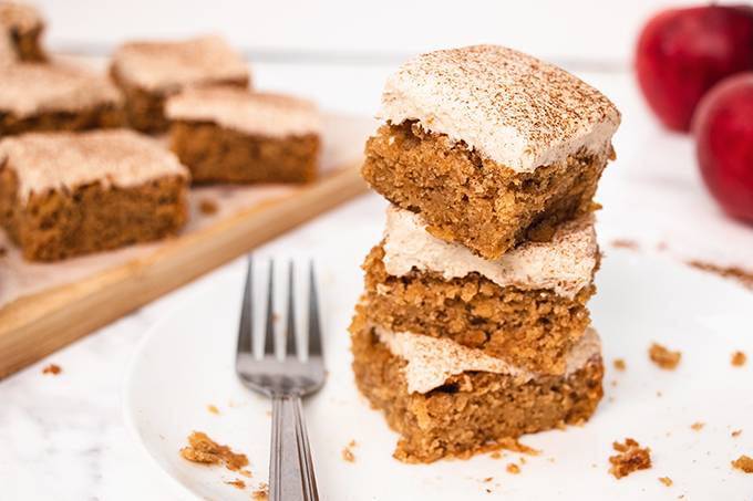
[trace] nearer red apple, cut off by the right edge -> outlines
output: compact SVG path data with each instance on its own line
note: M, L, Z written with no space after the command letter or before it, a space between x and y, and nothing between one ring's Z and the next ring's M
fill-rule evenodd
M730 216L753 222L753 72L730 76L703 96L693 135L711 195Z

